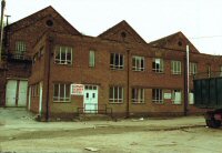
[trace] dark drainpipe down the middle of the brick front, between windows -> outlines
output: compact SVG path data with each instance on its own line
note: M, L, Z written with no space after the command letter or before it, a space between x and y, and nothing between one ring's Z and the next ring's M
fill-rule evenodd
M128 78L127 78L127 118L130 116L130 50L127 50L128 53Z

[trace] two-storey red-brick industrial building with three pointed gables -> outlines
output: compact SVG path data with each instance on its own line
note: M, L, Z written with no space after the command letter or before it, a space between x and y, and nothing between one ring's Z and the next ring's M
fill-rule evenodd
M8 59L2 67L7 68L1 72L6 76L2 82L8 88L11 80L29 80L28 110L42 119L105 112L117 116L201 113L203 110L193 105L192 75L210 75L222 68L221 57L200 53L182 32L147 43L121 21L98 37L88 37L51 7L8 26L7 30ZM18 45L26 50L17 52ZM71 84L83 84L84 92L71 94ZM19 98L20 88L17 90ZM18 98L11 103L19 105ZM8 103L6 99L2 104Z

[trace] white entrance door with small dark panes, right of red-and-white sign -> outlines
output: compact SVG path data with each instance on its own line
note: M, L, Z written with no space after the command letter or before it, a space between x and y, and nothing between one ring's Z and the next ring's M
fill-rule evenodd
M98 112L98 86L84 85L84 112L97 113Z

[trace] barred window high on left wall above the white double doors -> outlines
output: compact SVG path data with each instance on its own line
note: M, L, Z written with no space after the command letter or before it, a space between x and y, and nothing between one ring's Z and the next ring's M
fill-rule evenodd
M27 52L27 44L24 41L16 42L16 54L14 59L23 59L24 53Z

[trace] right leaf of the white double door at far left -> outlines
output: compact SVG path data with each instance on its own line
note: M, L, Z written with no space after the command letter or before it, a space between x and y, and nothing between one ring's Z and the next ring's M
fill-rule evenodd
M28 89L28 81L20 80L19 91L18 91L18 106L27 105L27 89Z

